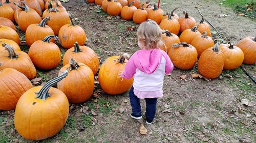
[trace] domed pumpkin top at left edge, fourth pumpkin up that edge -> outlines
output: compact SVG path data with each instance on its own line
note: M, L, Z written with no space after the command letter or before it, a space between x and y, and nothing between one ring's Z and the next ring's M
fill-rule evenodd
M5 25L0 25L0 38L13 40L17 44L19 44L19 36L17 32Z

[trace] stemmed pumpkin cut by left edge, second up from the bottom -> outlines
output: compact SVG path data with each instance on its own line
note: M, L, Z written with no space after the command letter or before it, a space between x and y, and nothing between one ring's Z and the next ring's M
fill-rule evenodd
M33 79L36 76L36 70L29 55L23 51L14 51L11 45L5 43L2 45L6 48L6 51L0 54L0 61L2 63L0 70L14 68L29 79Z

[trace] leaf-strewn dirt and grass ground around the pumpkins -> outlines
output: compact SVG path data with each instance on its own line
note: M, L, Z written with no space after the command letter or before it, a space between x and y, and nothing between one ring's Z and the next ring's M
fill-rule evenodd
M165 12L178 8L175 13L179 16L182 11L188 11L200 21L193 2L161 0L160 7ZM197 2L225 41L236 43L255 36L255 21L235 14L232 9L219 5L219 1ZM137 24L109 16L99 6L82 4L81 0L62 4L75 17L75 23L86 31L86 46L95 50L100 63L119 52L132 54L138 50ZM221 14L227 16L220 17ZM214 38L219 39L217 35ZM27 46L22 48L28 50ZM61 48L62 54L65 51ZM39 82L56 77L61 66L52 71L38 71L37 76L42 78ZM243 66L255 78L255 65ZM164 97L158 100L152 125L145 125L145 119L131 119L127 93L107 95L96 84L94 96L98 98L70 105L66 126L57 135L35 142L255 142L256 90L243 70L223 71L219 78L210 81L193 79L189 73L197 73L197 67L188 71L175 68L165 76ZM181 80L181 75L186 75L186 79ZM145 102L141 104L145 111ZM0 142L34 142L17 133L13 116L14 111L0 111ZM139 133L141 124L147 129L146 135Z

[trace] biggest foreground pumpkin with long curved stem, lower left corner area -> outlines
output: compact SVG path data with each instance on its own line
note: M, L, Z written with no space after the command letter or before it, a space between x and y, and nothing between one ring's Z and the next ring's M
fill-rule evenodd
M34 87L18 100L14 125L20 135L30 140L54 136L66 124L69 115L69 101L66 95L52 88L68 71L49 80L43 87Z

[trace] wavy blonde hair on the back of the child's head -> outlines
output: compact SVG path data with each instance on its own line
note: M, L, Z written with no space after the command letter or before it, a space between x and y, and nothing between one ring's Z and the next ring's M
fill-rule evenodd
M140 24L137 36L139 42L146 49L155 49L161 42L162 31L154 20L147 20Z

